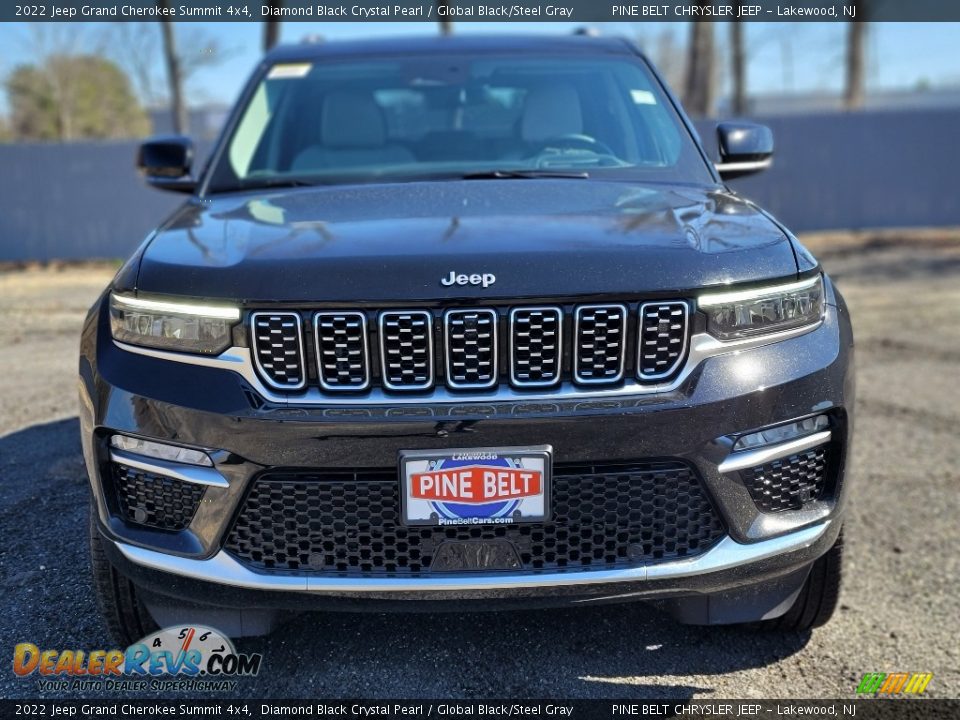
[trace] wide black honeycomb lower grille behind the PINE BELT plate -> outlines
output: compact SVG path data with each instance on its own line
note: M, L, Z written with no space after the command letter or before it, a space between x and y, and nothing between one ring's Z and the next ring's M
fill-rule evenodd
M445 541L506 540L524 571L610 568L699 555L724 535L687 464L558 466L553 517L518 525L405 527L396 471L259 476L226 550L261 571L429 573Z

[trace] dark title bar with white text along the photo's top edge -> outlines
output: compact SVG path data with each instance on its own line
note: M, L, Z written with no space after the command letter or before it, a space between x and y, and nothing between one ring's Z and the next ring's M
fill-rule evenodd
M608 0L199 0L161 6L154 0L56 0L2 3L0 22L170 20L176 22L939 22L960 21L960 3L903 0L865 3L823 0L743 0L743 2L636 3Z

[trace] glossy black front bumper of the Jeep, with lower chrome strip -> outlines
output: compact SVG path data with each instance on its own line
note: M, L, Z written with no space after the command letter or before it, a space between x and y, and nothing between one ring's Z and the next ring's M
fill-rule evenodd
M802 575L832 545L842 523L847 408L854 385L852 335L839 295L831 297L816 329L705 358L667 392L592 401L362 407L269 402L228 368L129 352L110 338L103 304L88 319L80 373L84 451L98 524L112 544L114 564L160 593L225 605L243 598L249 606L277 607L299 606L305 597L311 603L344 598L379 603L713 594ZM760 512L736 468L731 469L737 460L731 457L735 436L812 414L831 417L836 449L831 497L802 510ZM114 432L211 451L215 467L205 471L204 502L186 528L158 531L118 516L103 480L110 463L107 441ZM251 482L265 469L389 468L400 450L545 443L562 463L641 458L690 463L728 536L695 557L616 569L405 578L258 572L223 550Z

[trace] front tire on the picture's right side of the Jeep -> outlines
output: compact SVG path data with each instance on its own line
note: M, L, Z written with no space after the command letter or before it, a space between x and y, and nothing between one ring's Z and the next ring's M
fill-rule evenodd
M833 617L840 600L843 580L843 531L825 555L810 568L800 594L790 609L778 618L757 623L760 630L805 632L820 627Z

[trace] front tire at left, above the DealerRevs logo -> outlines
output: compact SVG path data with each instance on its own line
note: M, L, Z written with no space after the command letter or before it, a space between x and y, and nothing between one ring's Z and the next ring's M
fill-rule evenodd
M159 628L141 602L137 586L118 573L107 559L92 505L89 525L90 567L97 606L111 638L119 647L127 648Z

